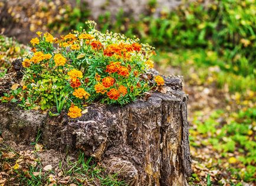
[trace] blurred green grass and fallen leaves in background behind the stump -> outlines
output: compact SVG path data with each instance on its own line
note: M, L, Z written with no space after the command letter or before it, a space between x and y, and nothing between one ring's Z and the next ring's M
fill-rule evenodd
M96 17L86 1L0 2L0 76L28 49L4 35L27 44L36 31L61 35L92 18L103 32L136 35L156 47L153 60L162 74L185 79L191 185L255 182L255 0L182 1L172 9L149 0L139 14L122 7L113 13L111 3L104 1Z

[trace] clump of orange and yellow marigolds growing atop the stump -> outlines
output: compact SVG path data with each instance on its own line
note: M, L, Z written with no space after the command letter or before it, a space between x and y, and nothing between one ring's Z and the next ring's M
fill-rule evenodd
M146 73L153 68L153 47L139 39L90 30L73 31L55 38L37 32L31 39L32 52L22 62L24 84L22 107L67 110L71 118L81 117L91 102L124 105L149 91ZM162 77L155 77L158 86Z

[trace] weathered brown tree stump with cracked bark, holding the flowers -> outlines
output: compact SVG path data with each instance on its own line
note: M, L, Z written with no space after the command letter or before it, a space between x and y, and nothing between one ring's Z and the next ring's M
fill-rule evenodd
M6 78L8 74L0 80L0 95L1 87L8 87ZM167 77L165 82L166 94L152 92L146 101L124 107L92 104L77 119L0 104L0 131L4 140L22 144L35 141L41 131L44 147L83 150L129 185L188 185L188 96L179 77Z

